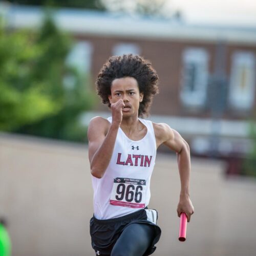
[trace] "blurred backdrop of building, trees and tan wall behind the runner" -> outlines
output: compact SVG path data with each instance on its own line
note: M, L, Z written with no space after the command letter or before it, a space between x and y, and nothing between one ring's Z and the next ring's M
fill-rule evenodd
M127 53L160 77L147 119L191 151L195 215L181 243L176 158L159 148L154 255L255 255L253 0L0 1L0 219L12 255L95 254L87 126L110 112L94 82L110 56Z

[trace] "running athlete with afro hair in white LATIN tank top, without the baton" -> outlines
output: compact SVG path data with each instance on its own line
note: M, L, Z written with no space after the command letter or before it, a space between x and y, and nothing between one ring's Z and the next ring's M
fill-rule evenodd
M161 229L157 211L147 209L156 151L161 144L178 156L181 180L177 212L190 221L189 147L165 123L142 119L158 93L158 75L138 55L111 57L98 74L98 95L111 108L108 119L95 117L88 129L89 160L94 189L90 221L96 255L150 255Z

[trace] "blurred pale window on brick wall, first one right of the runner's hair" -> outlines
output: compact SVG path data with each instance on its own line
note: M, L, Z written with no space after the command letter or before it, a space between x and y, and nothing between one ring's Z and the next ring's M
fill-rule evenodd
M182 61L181 101L186 106L202 107L207 93L208 53L201 48L188 48Z

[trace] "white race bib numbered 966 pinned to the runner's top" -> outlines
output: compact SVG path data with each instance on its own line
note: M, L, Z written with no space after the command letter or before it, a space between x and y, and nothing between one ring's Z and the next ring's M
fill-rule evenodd
M131 178L115 178L110 204L144 208L146 200L146 181Z

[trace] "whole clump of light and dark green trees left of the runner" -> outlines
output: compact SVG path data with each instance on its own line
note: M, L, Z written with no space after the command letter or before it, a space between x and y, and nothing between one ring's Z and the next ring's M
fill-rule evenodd
M50 15L38 33L2 33L0 129L73 141L86 138L79 116L94 98L89 74L67 64L71 38Z

